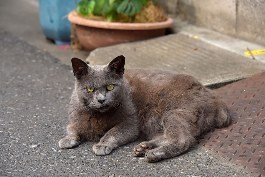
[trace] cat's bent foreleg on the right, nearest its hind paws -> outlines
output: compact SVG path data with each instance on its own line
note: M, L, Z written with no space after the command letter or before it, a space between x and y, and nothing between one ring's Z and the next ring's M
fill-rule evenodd
M136 119L137 120L137 119ZM137 122L122 122L112 127L96 145L93 145L93 152L96 155L108 155L110 152L119 147L135 140L139 135Z

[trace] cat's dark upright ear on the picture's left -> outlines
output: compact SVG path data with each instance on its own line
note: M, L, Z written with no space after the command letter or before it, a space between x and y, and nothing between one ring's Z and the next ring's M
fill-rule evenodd
M82 76L85 76L88 73L89 66L84 61L79 58L72 58L71 62L75 78L81 79Z

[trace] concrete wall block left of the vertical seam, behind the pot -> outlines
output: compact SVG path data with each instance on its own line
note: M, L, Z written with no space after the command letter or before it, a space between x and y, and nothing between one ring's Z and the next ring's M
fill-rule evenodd
M192 24L236 34L236 0L179 0L179 16Z

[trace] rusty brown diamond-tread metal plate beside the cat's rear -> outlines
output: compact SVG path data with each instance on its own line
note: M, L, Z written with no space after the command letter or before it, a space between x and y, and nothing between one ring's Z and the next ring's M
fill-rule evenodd
M199 138L199 144L265 176L265 72L216 89L231 112L230 126Z

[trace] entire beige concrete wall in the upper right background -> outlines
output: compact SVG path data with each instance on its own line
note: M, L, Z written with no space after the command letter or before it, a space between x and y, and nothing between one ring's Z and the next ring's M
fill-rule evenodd
M160 0L192 24L265 45L265 0Z

